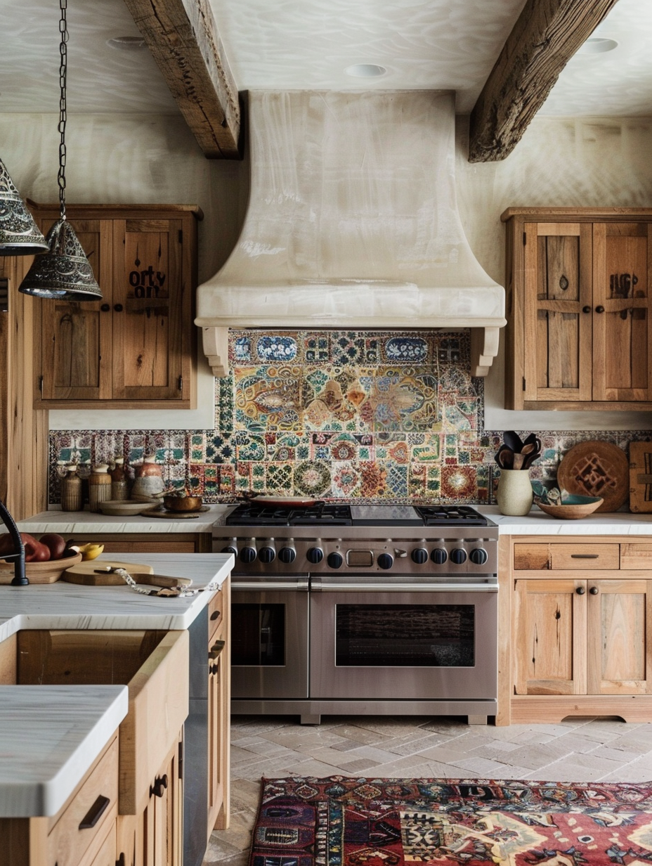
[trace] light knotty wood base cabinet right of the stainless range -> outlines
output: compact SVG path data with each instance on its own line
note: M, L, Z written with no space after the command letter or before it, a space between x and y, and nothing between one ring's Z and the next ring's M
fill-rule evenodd
M652 721L650 545L568 541L501 539L496 723L567 715Z

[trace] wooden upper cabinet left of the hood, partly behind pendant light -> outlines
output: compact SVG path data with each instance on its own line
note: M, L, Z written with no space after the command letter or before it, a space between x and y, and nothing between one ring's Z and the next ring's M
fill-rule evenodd
M42 301L37 408L196 405L197 218L181 205L68 207L100 301ZM37 206L47 230L57 211Z

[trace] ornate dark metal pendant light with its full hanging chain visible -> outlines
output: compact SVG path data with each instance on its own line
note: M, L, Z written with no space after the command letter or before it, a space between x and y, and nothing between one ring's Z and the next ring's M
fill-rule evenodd
M66 73L68 67L68 27L66 25L67 0L59 0L61 19L59 32L59 219L48 231L48 250L37 255L25 279L18 287L23 294L38 298L58 298L63 301L99 301L102 293L95 280L93 268L81 247L73 227L66 220Z

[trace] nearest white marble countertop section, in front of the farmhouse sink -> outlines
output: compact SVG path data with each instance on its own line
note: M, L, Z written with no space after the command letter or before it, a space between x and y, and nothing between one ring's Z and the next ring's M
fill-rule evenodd
M0 816L55 815L127 708L126 686L0 687Z

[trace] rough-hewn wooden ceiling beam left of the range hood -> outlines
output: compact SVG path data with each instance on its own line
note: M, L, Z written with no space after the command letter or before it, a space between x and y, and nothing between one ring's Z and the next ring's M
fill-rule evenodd
M204 156L240 158L236 82L209 0L125 0Z

